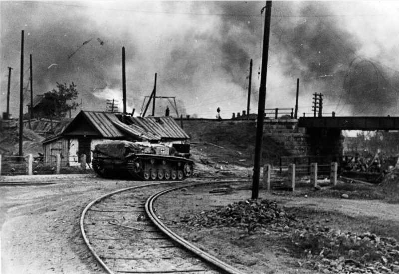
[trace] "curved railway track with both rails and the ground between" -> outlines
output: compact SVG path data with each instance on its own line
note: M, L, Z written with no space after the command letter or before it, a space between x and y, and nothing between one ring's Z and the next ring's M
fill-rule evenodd
M81 232L107 273L241 274L174 234L157 217L154 201L187 186L182 182L146 184L108 193L87 205L80 219Z

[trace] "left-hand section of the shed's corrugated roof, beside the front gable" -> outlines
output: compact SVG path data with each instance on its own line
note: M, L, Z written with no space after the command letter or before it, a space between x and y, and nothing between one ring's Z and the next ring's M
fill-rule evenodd
M98 130L98 132L106 138L117 138L124 137L122 131L120 131L111 119L108 117L106 112L96 111L81 111L83 115L89 120L89 122Z

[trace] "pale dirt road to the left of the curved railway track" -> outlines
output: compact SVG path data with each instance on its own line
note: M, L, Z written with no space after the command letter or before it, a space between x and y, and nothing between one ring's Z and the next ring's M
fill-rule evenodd
M1 272L102 273L80 235L82 210L102 194L140 182L104 180L95 175L9 179L56 184L0 187Z

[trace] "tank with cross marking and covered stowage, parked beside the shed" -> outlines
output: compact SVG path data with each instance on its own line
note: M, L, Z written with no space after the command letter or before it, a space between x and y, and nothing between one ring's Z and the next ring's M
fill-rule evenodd
M93 170L103 178L121 173L135 180L184 180L193 175L194 162L189 153L173 147L143 145L127 141L107 141L93 150Z

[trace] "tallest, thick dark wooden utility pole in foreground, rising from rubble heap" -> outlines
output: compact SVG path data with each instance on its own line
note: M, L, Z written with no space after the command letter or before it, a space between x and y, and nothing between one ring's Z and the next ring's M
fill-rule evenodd
M254 156L253 177L252 177L253 179L252 199L258 199L259 196L260 159L262 156L263 121L265 117L266 75L267 75L267 60L269 52L271 2L272 1L266 1L266 18L265 18L263 50L262 50L262 70L260 74L258 117L256 123L255 156Z

